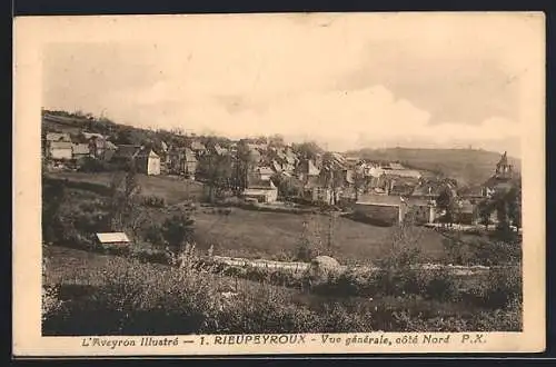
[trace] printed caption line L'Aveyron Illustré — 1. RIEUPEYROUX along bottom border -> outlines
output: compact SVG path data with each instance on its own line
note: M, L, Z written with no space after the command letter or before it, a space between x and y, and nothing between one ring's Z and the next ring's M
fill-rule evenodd
M183 345L196 344L198 346L218 346L218 345L330 345L330 346L357 346L357 345L449 345L466 344L476 345L486 343L485 334L356 334L353 336L321 334L241 334L241 335L214 335L199 337L85 337L82 347L100 347L116 349L120 347L179 347Z

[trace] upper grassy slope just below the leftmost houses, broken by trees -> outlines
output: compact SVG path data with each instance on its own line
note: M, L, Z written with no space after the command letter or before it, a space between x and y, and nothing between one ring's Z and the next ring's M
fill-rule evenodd
M108 187L110 186L115 172L52 172L48 176L52 178L68 179L71 181L98 184ZM165 198L166 202L169 205L189 199L198 200L202 195L202 184L200 182L167 176L137 176L139 178L142 195Z

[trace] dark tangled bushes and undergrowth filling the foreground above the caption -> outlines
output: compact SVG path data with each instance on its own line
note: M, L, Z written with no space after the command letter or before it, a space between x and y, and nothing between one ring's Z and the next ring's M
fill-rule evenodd
M502 331L522 328L519 272L506 270L488 277L484 287L475 288L475 296L481 304L471 304L445 300L447 298L433 287L451 289L449 279L437 277L423 280L423 289L433 290L428 296L426 292L394 296L396 292L389 291L388 282L379 282L383 290L373 299L322 297L265 282L241 281L237 286L234 278L192 268L187 260L181 267L153 266L108 256L96 260L100 262L96 267L89 266L89 258L80 270L63 266L64 270L52 271L49 268L56 265L47 265L46 285L52 286L46 288L44 335ZM73 274L70 276L64 274L67 271ZM405 271L388 272L388 276L394 284L400 278L413 277ZM450 297L457 297L457 291Z

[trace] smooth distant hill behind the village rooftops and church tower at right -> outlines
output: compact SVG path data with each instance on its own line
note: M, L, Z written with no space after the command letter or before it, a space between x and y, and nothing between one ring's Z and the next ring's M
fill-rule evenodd
M425 169L451 177L460 185L477 185L487 180L500 159L500 153L480 149L414 149L386 148L360 149L346 152L373 160L390 160L406 163L416 169ZM509 163L517 171L520 170L520 160L508 157Z

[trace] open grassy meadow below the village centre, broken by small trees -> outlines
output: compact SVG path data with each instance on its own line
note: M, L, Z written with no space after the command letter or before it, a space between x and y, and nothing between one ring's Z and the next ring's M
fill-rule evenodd
M304 231L302 221L311 218L315 240L327 245L329 218L324 215L260 212L232 208L229 216L196 215L196 237L201 247L215 246L217 255L269 258L294 252ZM368 262L389 251L394 227L376 227L347 218L336 218L331 255L340 262ZM443 237L428 228L415 228L421 249L430 259L444 255ZM318 237L317 237L318 236Z

